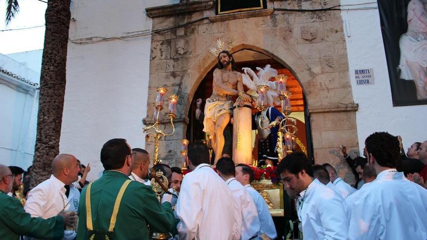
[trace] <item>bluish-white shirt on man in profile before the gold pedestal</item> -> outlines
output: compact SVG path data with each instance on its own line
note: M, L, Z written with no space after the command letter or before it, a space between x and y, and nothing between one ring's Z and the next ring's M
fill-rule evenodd
M277 238L276 227L273 222L273 218L271 217L270 210L268 209L267 204L261 194L256 191L250 184L246 184L245 188L247 192L252 196L252 199L255 202L255 206L258 211L258 218L260 219L261 229L258 232L258 237L261 237L262 234L267 235L270 239Z

